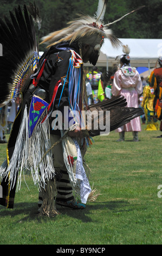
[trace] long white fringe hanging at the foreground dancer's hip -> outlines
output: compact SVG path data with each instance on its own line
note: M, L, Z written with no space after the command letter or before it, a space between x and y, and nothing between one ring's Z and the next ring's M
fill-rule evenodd
M1 177L9 175L10 189L15 186L17 174L16 191L21 188L22 175L31 174L34 184L38 185L39 190L41 186L44 187L46 185L46 179L53 178L55 170L51 151L41 161L42 156L49 148L50 126L48 119L42 124L39 122L35 127L33 135L29 138L28 113L27 106L25 106L20 131L9 166L6 169L7 161L4 161L0 168Z

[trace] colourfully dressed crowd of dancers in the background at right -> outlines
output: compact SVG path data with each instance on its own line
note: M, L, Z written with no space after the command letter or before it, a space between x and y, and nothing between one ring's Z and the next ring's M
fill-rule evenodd
M123 55L121 57L123 57ZM158 59L159 65L157 69L154 69L154 70L158 70L159 73L161 72L160 74L158 74L159 76L162 75L161 59L162 57L159 57ZM122 61L125 62L125 60L122 60ZM140 76L136 71L138 76L137 80L139 81L137 83L134 81L134 84L136 83L136 85L134 86L135 88L134 92L135 91L138 92L136 95L137 102L135 102L134 101L135 94L131 92L129 93L129 96L127 96L128 92L126 92L125 90L126 88L122 89L122 86L120 86L120 83L123 83L123 81L122 82L120 81L121 74L122 74L122 72L120 71L120 67L121 65L124 65L124 64L125 66L127 65L130 66L130 62L128 63L121 62L120 65L114 64L113 68L109 72L102 73L99 71L98 67L94 67L92 68L92 70L86 72L86 89L87 89L88 105L91 105L93 103L98 103L99 101L103 101L106 99L111 99L113 96L121 94L127 99L127 102L131 101L131 103L130 102L128 103L129 107L131 106L131 107L142 108L142 110L144 111L144 114L141 115L140 117L140 124L147 124L145 130L156 131L160 129L161 131L161 124L160 124L160 127L158 124L158 120L161 120L160 119L161 107L159 103L161 102L159 101L160 99L159 88L161 88L159 86L159 83L161 81L160 78L159 78L159 81L157 81L158 78L156 78L154 75L155 71L152 71L152 73L145 80L144 77ZM121 72L120 78L118 76L119 72ZM131 73L129 73L129 75L130 74ZM127 84L129 83L128 80L125 82ZM132 83L132 80L131 80L131 83ZM125 91L125 93L122 92L123 90ZM130 88L128 90L130 90ZM132 97L131 100L129 100L130 97ZM159 108L159 113L157 112L156 108ZM128 127L130 125L132 127ZM130 122L125 127L121 127L116 131L118 131L120 135L120 138L118 139L118 141L124 141L125 131L136 132L136 131L141 131L141 128L140 128L140 125L137 123L137 119L134 119L132 123ZM162 136L160 135L158 137L161 138ZM138 135L133 137L133 140L138 141Z

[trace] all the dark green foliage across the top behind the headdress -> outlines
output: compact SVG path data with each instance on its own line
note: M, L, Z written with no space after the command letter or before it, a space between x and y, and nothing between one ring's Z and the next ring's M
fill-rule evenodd
M2 0L0 17L3 17L3 15L9 16L9 10L13 11L14 8L18 7L18 4L23 8L23 4L29 4L29 2L27 0ZM36 0L35 2L42 17L40 38L65 27L68 21L78 17L77 14L93 16L98 7L98 0ZM129 11L141 5L146 5L144 9L112 25L111 29L119 38L161 38L161 4L162 0L108 1L104 21L105 23L112 22L129 13Z

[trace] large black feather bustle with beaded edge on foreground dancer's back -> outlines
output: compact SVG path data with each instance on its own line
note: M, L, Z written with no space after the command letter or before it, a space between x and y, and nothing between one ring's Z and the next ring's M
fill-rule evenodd
M30 76L38 64L37 41L34 22L24 5L15 14L10 12L10 20L0 19L0 43L3 56L0 58L0 106L14 100L27 88Z

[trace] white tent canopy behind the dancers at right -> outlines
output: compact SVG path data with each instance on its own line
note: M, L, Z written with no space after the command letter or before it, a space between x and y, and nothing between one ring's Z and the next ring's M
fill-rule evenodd
M129 56L131 58L132 66L146 66L150 70L150 68L154 68L158 57L162 55L162 39L119 38L119 40L122 44L129 46L131 50ZM115 58L122 53L122 46L116 50L111 45L111 42L108 39L105 39L96 66L106 66L108 70L109 66L117 64ZM84 66L93 65L85 63Z

